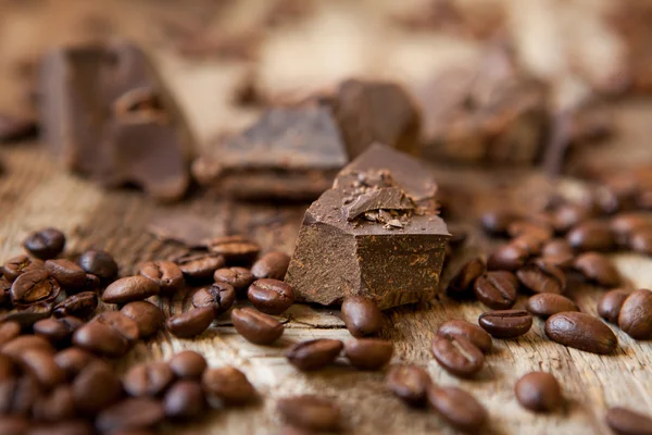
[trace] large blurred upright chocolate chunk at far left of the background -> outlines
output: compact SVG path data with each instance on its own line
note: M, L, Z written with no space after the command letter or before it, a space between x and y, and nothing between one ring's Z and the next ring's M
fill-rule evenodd
M139 48L53 50L39 87L43 138L68 170L106 187L136 185L162 200L185 194L189 135Z

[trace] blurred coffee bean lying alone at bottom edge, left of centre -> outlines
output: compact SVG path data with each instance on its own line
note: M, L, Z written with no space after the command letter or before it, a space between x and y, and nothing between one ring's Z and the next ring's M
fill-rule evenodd
M338 431L341 425L339 407L331 400L317 396L293 396L276 403L284 420L293 426L310 431Z

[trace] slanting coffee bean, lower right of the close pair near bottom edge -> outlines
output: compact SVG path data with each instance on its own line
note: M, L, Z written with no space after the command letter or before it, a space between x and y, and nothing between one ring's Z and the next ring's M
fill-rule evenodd
M479 433L489 418L485 407L461 388L430 385L427 397L432 410L460 431Z

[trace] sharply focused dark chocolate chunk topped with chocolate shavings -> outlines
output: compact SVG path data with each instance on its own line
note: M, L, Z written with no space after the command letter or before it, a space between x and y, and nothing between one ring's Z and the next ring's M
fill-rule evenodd
M285 278L298 300L362 295L386 309L431 299L450 238L436 189L417 160L385 145L351 162L305 212Z

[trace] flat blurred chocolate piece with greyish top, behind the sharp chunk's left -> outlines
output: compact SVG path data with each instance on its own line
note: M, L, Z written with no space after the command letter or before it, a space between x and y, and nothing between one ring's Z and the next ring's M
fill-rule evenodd
M274 108L240 135L200 157L200 184L238 198L314 199L347 163L330 109L317 102Z

